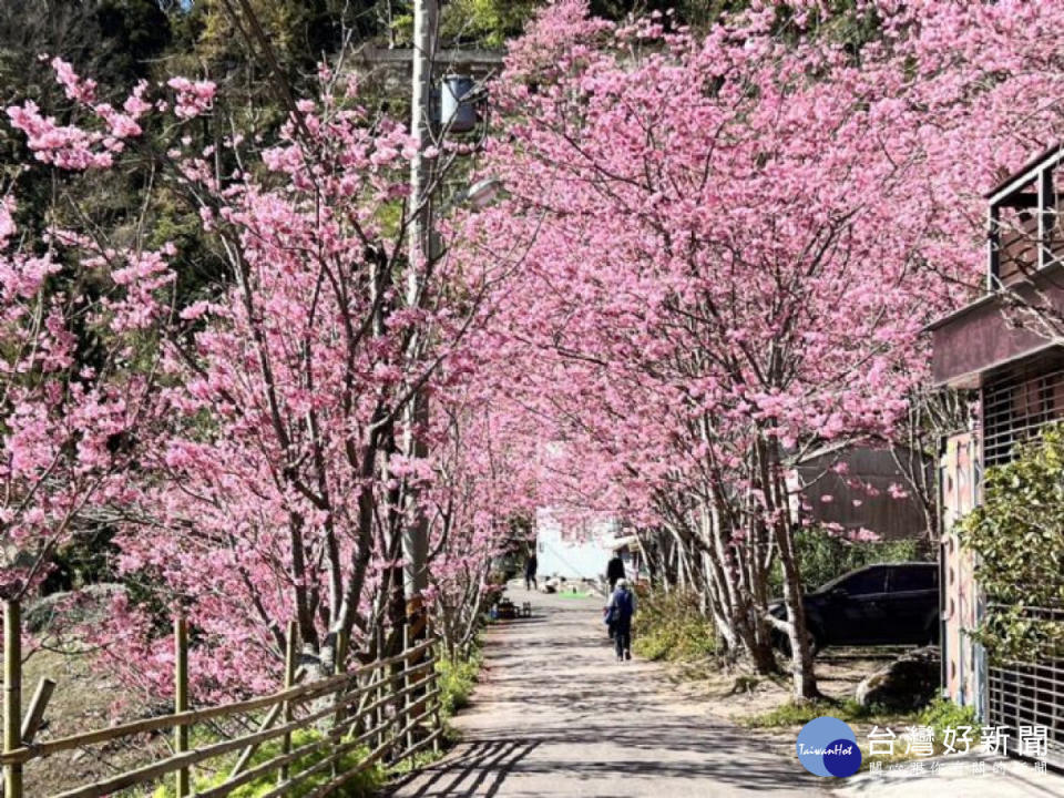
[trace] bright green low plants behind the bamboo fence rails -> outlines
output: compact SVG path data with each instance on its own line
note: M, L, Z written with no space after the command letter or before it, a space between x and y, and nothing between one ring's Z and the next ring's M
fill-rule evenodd
M325 736L320 732L314 729L299 729L294 732L291 735L291 749L295 750L297 748L301 748L303 746L310 745L311 743L323 741L324 739ZM328 745L323 745L320 748L310 751L305 757L293 763L289 766L290 771L293 775L296 775L301 770L306 770L307 768L310 768L320 763L323 759L327 758L329 754L330 747ZM337 763L337 771L346 773L354 769L366 759L368 754L369 749L364 746L348 751L340 757L339 761ZM280 756L280 741L273 740L255 751L247 764L247 769L250 769L256 765L262 765L263 763L266 763L267 760L277 756ZM229 768L232 768L235 760L236 755L225 759L212 760L211 764L216 768L216 770L209 775L201 775L194 770L194 791L202 792L223 784L228 778ZM301 796L309 795L321 785L328 784L331 778L331 769L324 768L321 773L315 774L306 781L291 788L285 795L291 796L291 798L301 798ZM375 763L358 776L355 776L351 778L351 780L345 782L338 790L331 792L330 795L341 796L342 798L370 798L370 796L377 795L378 790L381 788L381 786L383 786L385 779L385 768ZM229 795L232 798L258 798L259 796L267 795L274 789L277 789L277 771L270 770L254 781L243 785L242 787L237 787ZM152 794L152 798L173 798L174 795L175 790L173 777L171 777L165 786L160 787Z

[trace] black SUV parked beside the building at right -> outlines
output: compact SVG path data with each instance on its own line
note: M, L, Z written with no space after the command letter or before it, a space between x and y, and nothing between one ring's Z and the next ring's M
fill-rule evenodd
M831 580L805 598L815 651L829 645L925 644L939 640L937 563L867 565ZM787 617L781 602L773 604L769 612ZM786 643L782 635L779 642Z

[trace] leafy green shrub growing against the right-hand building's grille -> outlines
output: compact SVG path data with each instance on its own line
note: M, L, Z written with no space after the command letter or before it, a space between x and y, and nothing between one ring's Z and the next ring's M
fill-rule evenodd
M986 470L983 502L958 524L974 552L989 598L973 637L994 661L1034 661L1064 652L1064 623L1029 606L1064 603L1064 424L1017 447L1012 462Z

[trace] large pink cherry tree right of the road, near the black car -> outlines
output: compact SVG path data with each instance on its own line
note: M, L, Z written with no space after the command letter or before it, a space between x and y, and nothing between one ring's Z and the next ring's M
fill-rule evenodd
M817 689L787 473L897 427L948 300L915 268L939 232L909 211L919 162L884 136L898 80L870 95L841 48L780 42L764 13L696 39L564 2L497 93L510 198L480 245L524 263L499 301L533 352L526 401L584 493L601 480L693 546L729 647L769 669L786 632L799 697ZM776 561L786 622L767 613Z

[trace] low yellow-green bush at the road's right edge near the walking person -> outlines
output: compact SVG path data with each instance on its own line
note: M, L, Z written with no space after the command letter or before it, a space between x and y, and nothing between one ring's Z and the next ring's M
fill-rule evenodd
M654 590L640 596L632 648L647 659L704 659L716 653L717 635L702 614L697 595Z

